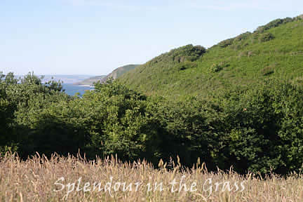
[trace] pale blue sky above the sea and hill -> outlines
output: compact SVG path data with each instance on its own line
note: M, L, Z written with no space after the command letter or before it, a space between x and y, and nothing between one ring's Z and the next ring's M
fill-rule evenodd
M0 0L0 72L108 74L189 43L210 47L302 8L302 0Z

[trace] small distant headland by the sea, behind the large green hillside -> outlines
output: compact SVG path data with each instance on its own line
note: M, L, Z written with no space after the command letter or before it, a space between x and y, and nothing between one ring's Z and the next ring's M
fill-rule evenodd
M112 78L112 79L118 79L120 76L125 74L126 72L135 69L139 65L125 65L123 67L118 67L114 69L114 71L108 75L102 75L102 76L94 76L89 79L85 79L79 83L76 83L78 85L93 85L93 83L97 81L105 82L107 79Z

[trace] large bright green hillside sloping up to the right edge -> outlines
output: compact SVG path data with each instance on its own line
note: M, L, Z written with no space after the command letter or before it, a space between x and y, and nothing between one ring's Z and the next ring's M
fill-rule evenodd
M205 97L269 77L303 82L303 16L278 19L208 48L183 46L119 79L147 95Z

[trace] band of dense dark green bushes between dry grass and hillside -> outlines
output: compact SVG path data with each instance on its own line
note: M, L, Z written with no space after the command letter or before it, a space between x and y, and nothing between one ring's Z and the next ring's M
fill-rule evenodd
M117 154L153 163L180 156L191 166L268 173L299 171L303 163L303 88L269 79L254 88L230 88L212 99L170 101L147 97L119 83L96 83L69 97L60 83L28 74L1 80L1 152L23 157Z

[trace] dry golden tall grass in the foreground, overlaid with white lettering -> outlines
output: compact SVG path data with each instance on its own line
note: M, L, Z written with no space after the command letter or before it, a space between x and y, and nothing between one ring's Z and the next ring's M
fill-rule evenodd
M181 169L180 163L173 161L160 162L159 166L161 169L154 169L144 161L121 163L113 156L86 161L81 156L55 154L47 159L37 154L21 161L18 156L6 155L0 159L0 198L1 201L268 202L303 199L302 175L260 179L232 170L210 173L203 163L192 169Z

